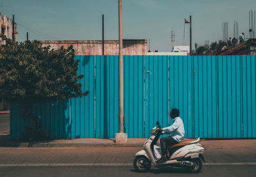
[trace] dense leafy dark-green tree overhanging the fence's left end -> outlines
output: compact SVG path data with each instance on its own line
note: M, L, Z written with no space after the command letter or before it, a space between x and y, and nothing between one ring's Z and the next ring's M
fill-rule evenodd
M83 75L77 75L79 60L74 60L74 49L63 46L58 50L42 47L40 41L17 43L1 36L0 46L0 97L19 102L23 118L29 118L36 129L32 115L35 101L82 97Z

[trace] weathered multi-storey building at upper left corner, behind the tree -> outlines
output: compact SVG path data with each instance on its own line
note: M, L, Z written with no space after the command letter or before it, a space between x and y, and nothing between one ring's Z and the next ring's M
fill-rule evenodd
M1 34L4 34L6 38L12 39L13 41L17 41L17 24L13 19L8 18L6 15L1 15L0 12L0 29ZM1 40L0 44L3 44L4 41Z

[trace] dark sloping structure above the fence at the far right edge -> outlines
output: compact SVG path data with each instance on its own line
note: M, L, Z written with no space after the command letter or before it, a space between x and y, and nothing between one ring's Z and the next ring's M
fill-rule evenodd
M248 39L244 43L225 50L220 55L256 55L256 39Z

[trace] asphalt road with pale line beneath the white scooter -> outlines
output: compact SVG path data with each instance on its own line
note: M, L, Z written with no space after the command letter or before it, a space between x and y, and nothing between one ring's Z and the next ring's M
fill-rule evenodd
M137 173L137 147L0 148L0 176L256 176L256 145L206 148L198 174L172 167Z

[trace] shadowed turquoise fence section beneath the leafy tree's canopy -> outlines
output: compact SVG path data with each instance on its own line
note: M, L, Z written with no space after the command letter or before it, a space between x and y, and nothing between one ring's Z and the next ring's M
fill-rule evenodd
M33 105L33 115L38 117L38 125L47 131L47 136L52 139L70 137L70 103L68 100L42 101ZM19 103L11 103L10 111L10 138L20 139L24 128L30 120L22 118Z

